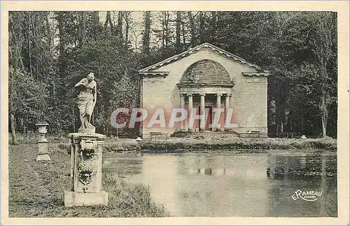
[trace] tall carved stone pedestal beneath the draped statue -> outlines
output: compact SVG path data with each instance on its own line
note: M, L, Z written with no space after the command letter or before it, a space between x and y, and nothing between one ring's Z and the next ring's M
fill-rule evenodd
M71 190L64 192L64 206L107 205L102 190L102 134L74 133L71 139Z

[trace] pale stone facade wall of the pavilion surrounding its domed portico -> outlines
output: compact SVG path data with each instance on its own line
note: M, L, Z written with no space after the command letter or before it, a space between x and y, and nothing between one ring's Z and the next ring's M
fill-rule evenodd
M235 108L237 132L258 129L267 132L267 78L258 76L243 76L242 72L256 72L246 64L235 62L208 48L202 48L197 52L183 57L170 64L160 66L154 71L169 71L165 78L144 78L142 88L142 101L144 108L172 108L180 106L180 90L176 85L181 80L188 66L202 59L211 59L222 66L230 74L235 82L230 98L230 107ZM149 132L163 132L172 134L179 128L143 128L143 134Z

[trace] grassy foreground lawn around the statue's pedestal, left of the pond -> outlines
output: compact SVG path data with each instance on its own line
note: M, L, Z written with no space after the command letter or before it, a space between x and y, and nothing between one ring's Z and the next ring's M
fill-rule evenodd
M69 155L50 143L51 162L36 162L36 145L9 148L10 217L163 217L148 187L125 183L116 174L104 174L102 186L109 206L65 207L63 191L69 190Z

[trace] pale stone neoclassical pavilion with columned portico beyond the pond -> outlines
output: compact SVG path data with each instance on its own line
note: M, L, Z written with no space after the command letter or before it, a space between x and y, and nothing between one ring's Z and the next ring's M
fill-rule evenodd
M141 105L149 112L161 108L169 116L174 108L186 108L200 115L193 123L187 119L174 127L147 127L146 121L143 134L172 134L179 130L267 132L269 72L230 52L204 43L141 69L139 75ZM216 108L223 108L220 128L211 127ZM226 127L227 113L233 115L230 123L235 127Z

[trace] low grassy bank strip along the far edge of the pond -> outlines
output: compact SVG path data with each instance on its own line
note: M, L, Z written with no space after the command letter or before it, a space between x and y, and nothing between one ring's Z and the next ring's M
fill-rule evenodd
M68 137L48 136L49 143L60 143L61 148L70 150ZM33 137L20 137L18 143L35 144L37 139ZM152 140L144 139L141 142L135 139L106 138L104 150L106 152L122 151L149 151L157 153L191 153L205 152L208 150L293 150L293 149L320 149L337 150L337 139L279 139L279 138L239 138L232 136L227 139L191 139L169 138Z

